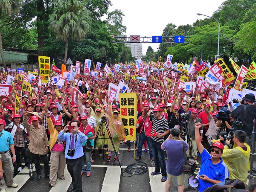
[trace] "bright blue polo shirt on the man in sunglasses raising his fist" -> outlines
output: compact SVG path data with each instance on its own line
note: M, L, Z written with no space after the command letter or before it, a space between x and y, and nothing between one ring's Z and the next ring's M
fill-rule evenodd
M222 159L220 163L212 164L211 155L205 149L202 154L199 153L199 155L201 156L201 168L199 175L207 175L210 179L221 181L225 181L225 179L228 178L229 173L227 165L223 162ZM199 192L203 192L208 187L213 186L213 183L210 183L208 181L204 181L201 179L198 179L198 181Z

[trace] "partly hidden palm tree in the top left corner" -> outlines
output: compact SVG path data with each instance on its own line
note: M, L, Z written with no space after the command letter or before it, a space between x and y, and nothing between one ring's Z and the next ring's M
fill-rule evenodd
M9 15L9 17L13 16L14 13L19 12L19 7L21 6L22 0L0 0L0 19L1 15L6 14ZM3 67L6 70L6 73L8 74L8 70L6 67L6 62L3 56L3 43L2 43L2 34L0 31L0 52L1 52L1 58L3 62Z

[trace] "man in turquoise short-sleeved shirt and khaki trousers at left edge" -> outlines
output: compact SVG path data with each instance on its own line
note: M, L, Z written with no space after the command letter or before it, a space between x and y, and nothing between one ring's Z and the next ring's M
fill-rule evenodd
M0 170L0 191L5 192L6 184L7 186L17 187L18 184L13 182L13 163L16 161L15 149L13 145L12 135L3 130L3 120L0 119L0 155L1 162L3 163L3 169ZM13 157L9 150L12 152ZM3 171L6 176L6 182L3 178Z

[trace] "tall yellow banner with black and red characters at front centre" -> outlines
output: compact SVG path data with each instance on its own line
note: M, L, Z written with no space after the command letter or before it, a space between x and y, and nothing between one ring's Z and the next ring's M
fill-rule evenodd
M119 93L120 115L125 129L125 140L136 140L137 96L136 93Z

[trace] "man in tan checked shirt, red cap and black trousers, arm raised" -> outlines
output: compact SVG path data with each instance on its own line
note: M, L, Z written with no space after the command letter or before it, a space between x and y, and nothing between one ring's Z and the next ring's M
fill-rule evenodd
M47 157L47 153L49 152L49 140L47 138L46 129L44 128L44 126L39 125L38 116L32 116L32 125L29 125L27 114L27 111L23 113L23 124L25 125L26 130L29 132L29 151L31 152L32 159L35 163L35 170L37 173L36 180L40 180L40 157L44 163L44 177L49 177L49 162Z

